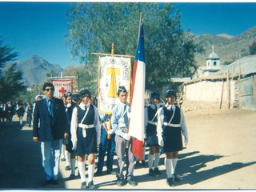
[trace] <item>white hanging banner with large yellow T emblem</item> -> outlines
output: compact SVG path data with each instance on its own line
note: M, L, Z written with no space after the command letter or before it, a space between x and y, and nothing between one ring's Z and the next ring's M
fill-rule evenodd
M98 110L111 114L119 102L118 87L130 93L130 58L101 57L98 61Z

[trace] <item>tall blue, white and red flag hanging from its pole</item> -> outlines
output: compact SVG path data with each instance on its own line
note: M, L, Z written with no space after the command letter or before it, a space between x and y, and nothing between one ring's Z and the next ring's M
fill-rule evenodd
M142 20L131 85L129 124L129 135L134 137L132 151L140 160L142 160L142 146L144 143L145 76L144 27Z

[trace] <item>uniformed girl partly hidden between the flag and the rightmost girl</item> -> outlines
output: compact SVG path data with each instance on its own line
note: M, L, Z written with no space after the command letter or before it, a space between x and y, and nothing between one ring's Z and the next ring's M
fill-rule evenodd
M155 176L161 174L158 169L160 158L160 146L158 145L157 136L157 122L158 122L158 109L161 107L158 103L160 94L153 92L150 95L150 105L145 108L145 133L146 133L146 146L150 147L148 156L149 175ZM154 162L154 170L153 170Z

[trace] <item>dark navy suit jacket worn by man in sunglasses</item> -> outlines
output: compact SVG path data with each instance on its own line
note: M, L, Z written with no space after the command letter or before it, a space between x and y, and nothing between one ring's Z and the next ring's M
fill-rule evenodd
M64 138L68 126L62 99L54 98L54 118L52 121L50 121L46 102L44 98L35 102L34 107L33 137L38 137L41 142Z

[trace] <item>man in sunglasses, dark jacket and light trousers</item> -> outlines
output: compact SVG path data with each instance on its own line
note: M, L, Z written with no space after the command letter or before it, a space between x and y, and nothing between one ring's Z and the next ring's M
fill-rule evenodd
M58 184L59 158L62 140L68 137L68 123L63 101L54 98L54 85L46 82L42 90L45 98L35 102L34 106L33 140L41 142L42 166L45 173L42 186L47 186ZM51 159L54 163L51 163Z

